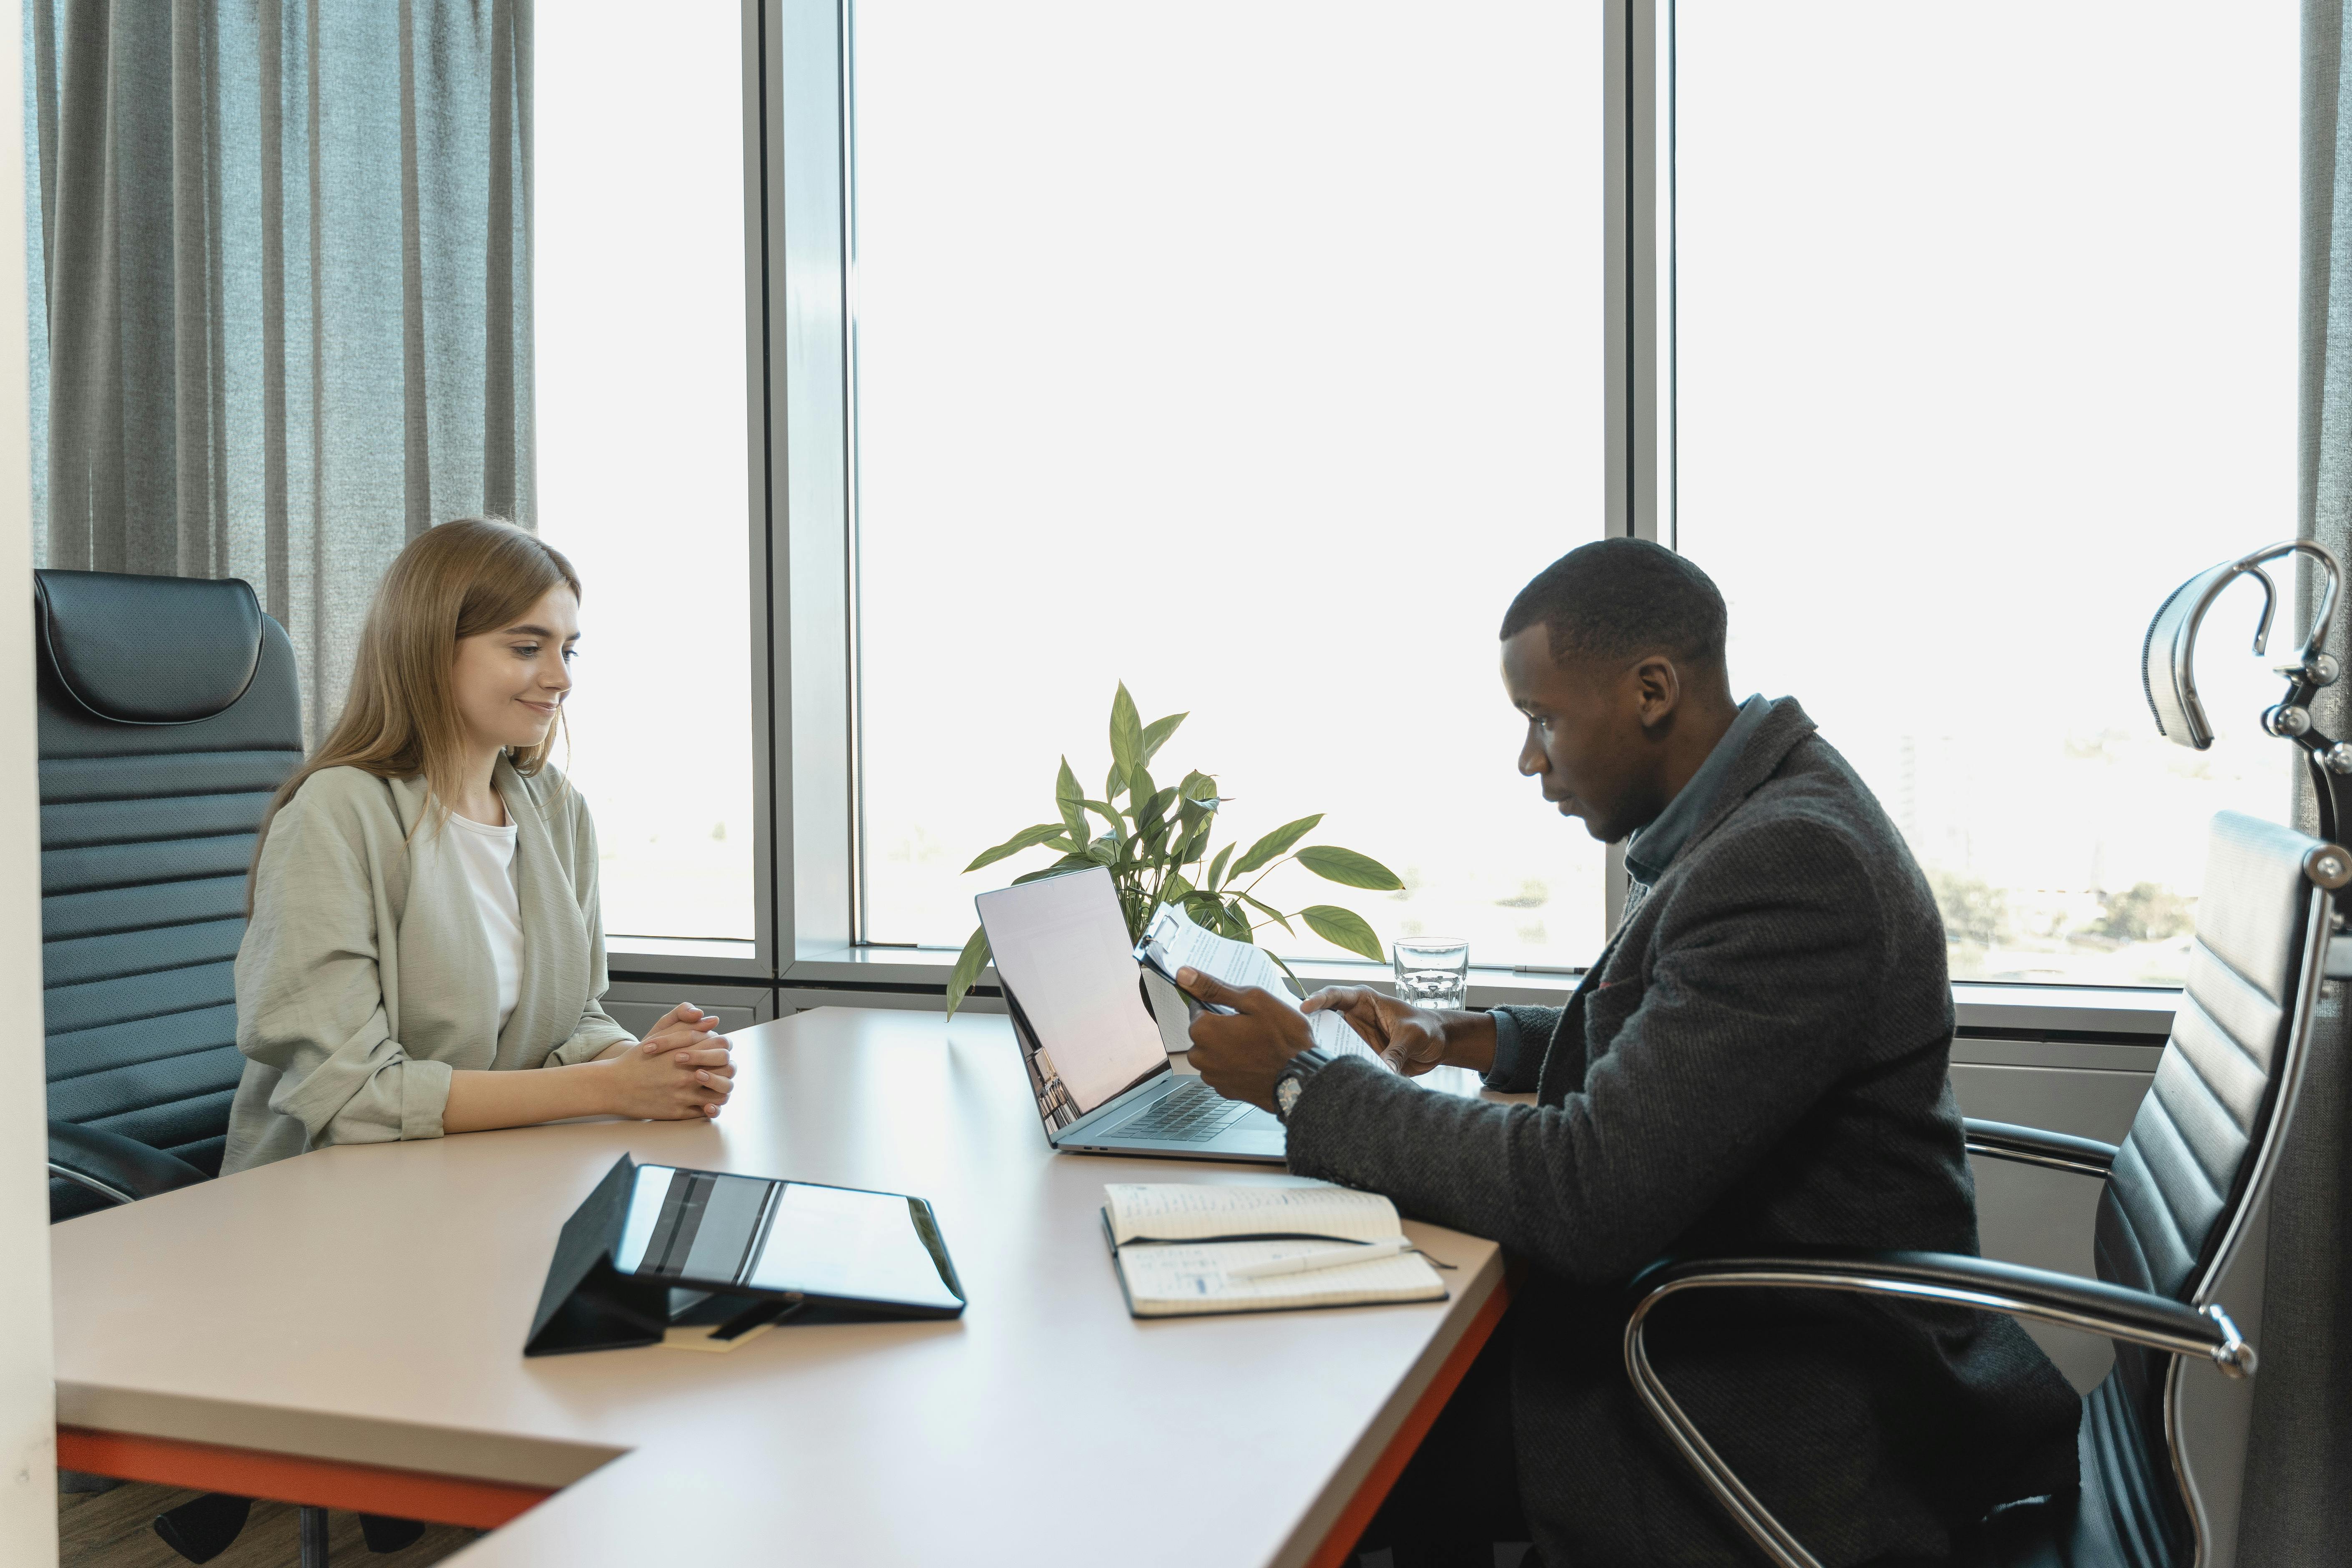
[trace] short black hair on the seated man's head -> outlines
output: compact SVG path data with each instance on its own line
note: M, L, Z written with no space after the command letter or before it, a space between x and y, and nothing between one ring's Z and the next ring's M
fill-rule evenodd
M1646 538L1602 538L1538 571L1510 602L1503 637L1550 628L1552 663L1665 654L1719 665L1724 621L1724 595L1705 571Z

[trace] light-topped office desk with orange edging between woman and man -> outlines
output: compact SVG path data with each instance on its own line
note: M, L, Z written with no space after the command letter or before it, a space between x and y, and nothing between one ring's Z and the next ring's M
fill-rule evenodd
M1103 1182L1291 1178L1051 1154L1002 1018L821 1009L734 1046L715 1124L334 1147L54 1227L59 1462L503 1523L470 1568L1329 1566L1503 1312L1494 1244L1406 1225L1449 1302L1134 1321ZM623 1150L927 1197L971 1305L524 1361Z

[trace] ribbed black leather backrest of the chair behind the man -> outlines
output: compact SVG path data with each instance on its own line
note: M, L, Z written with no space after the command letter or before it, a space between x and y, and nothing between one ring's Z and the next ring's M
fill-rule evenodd
M2324 971L2326 893L2303 872L2317 842L2234 811L2213 818L2190 976L2173 1034L2098 1204L2098 1276L2204 1307L2237 1244L2291 1105L2288 1046ZM2147 1559L2183 1561L2178 1486L2145 1474L2171 1453L2180 1359L2114 1347L2114 1371L2091 1392L2086 1436L2119 1469L2152 1540ZM2122 1432L2136 1427L2138 1441ZM2159 1502L2161 1500L2161 1502Z

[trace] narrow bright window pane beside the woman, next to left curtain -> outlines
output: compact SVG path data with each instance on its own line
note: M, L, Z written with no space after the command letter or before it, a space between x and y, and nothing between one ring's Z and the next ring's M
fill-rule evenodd
M614 950L755 936L741 26L536 24L539 534L586 590L569 766Z

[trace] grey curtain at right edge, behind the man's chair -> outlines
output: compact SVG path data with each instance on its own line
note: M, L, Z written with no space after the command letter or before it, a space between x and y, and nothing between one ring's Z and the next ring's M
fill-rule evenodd
M2300 527L2352 559L2352 59L2345 0L2303 5ZM2312 609L2303 576L2303 611ZM2336 623L2345 623L2338 607ZM2340 649L2340 644L2338 644ZM2347 682L2352 684L2352 682ZM2314 717L2352 733L2347 684ZM2305 830L2317 830L2298 780ZM2263 1354L2239 1563L2340 1561L2352 1540L2352 1009L2321 1001L2296 1126L2270 1192Z

